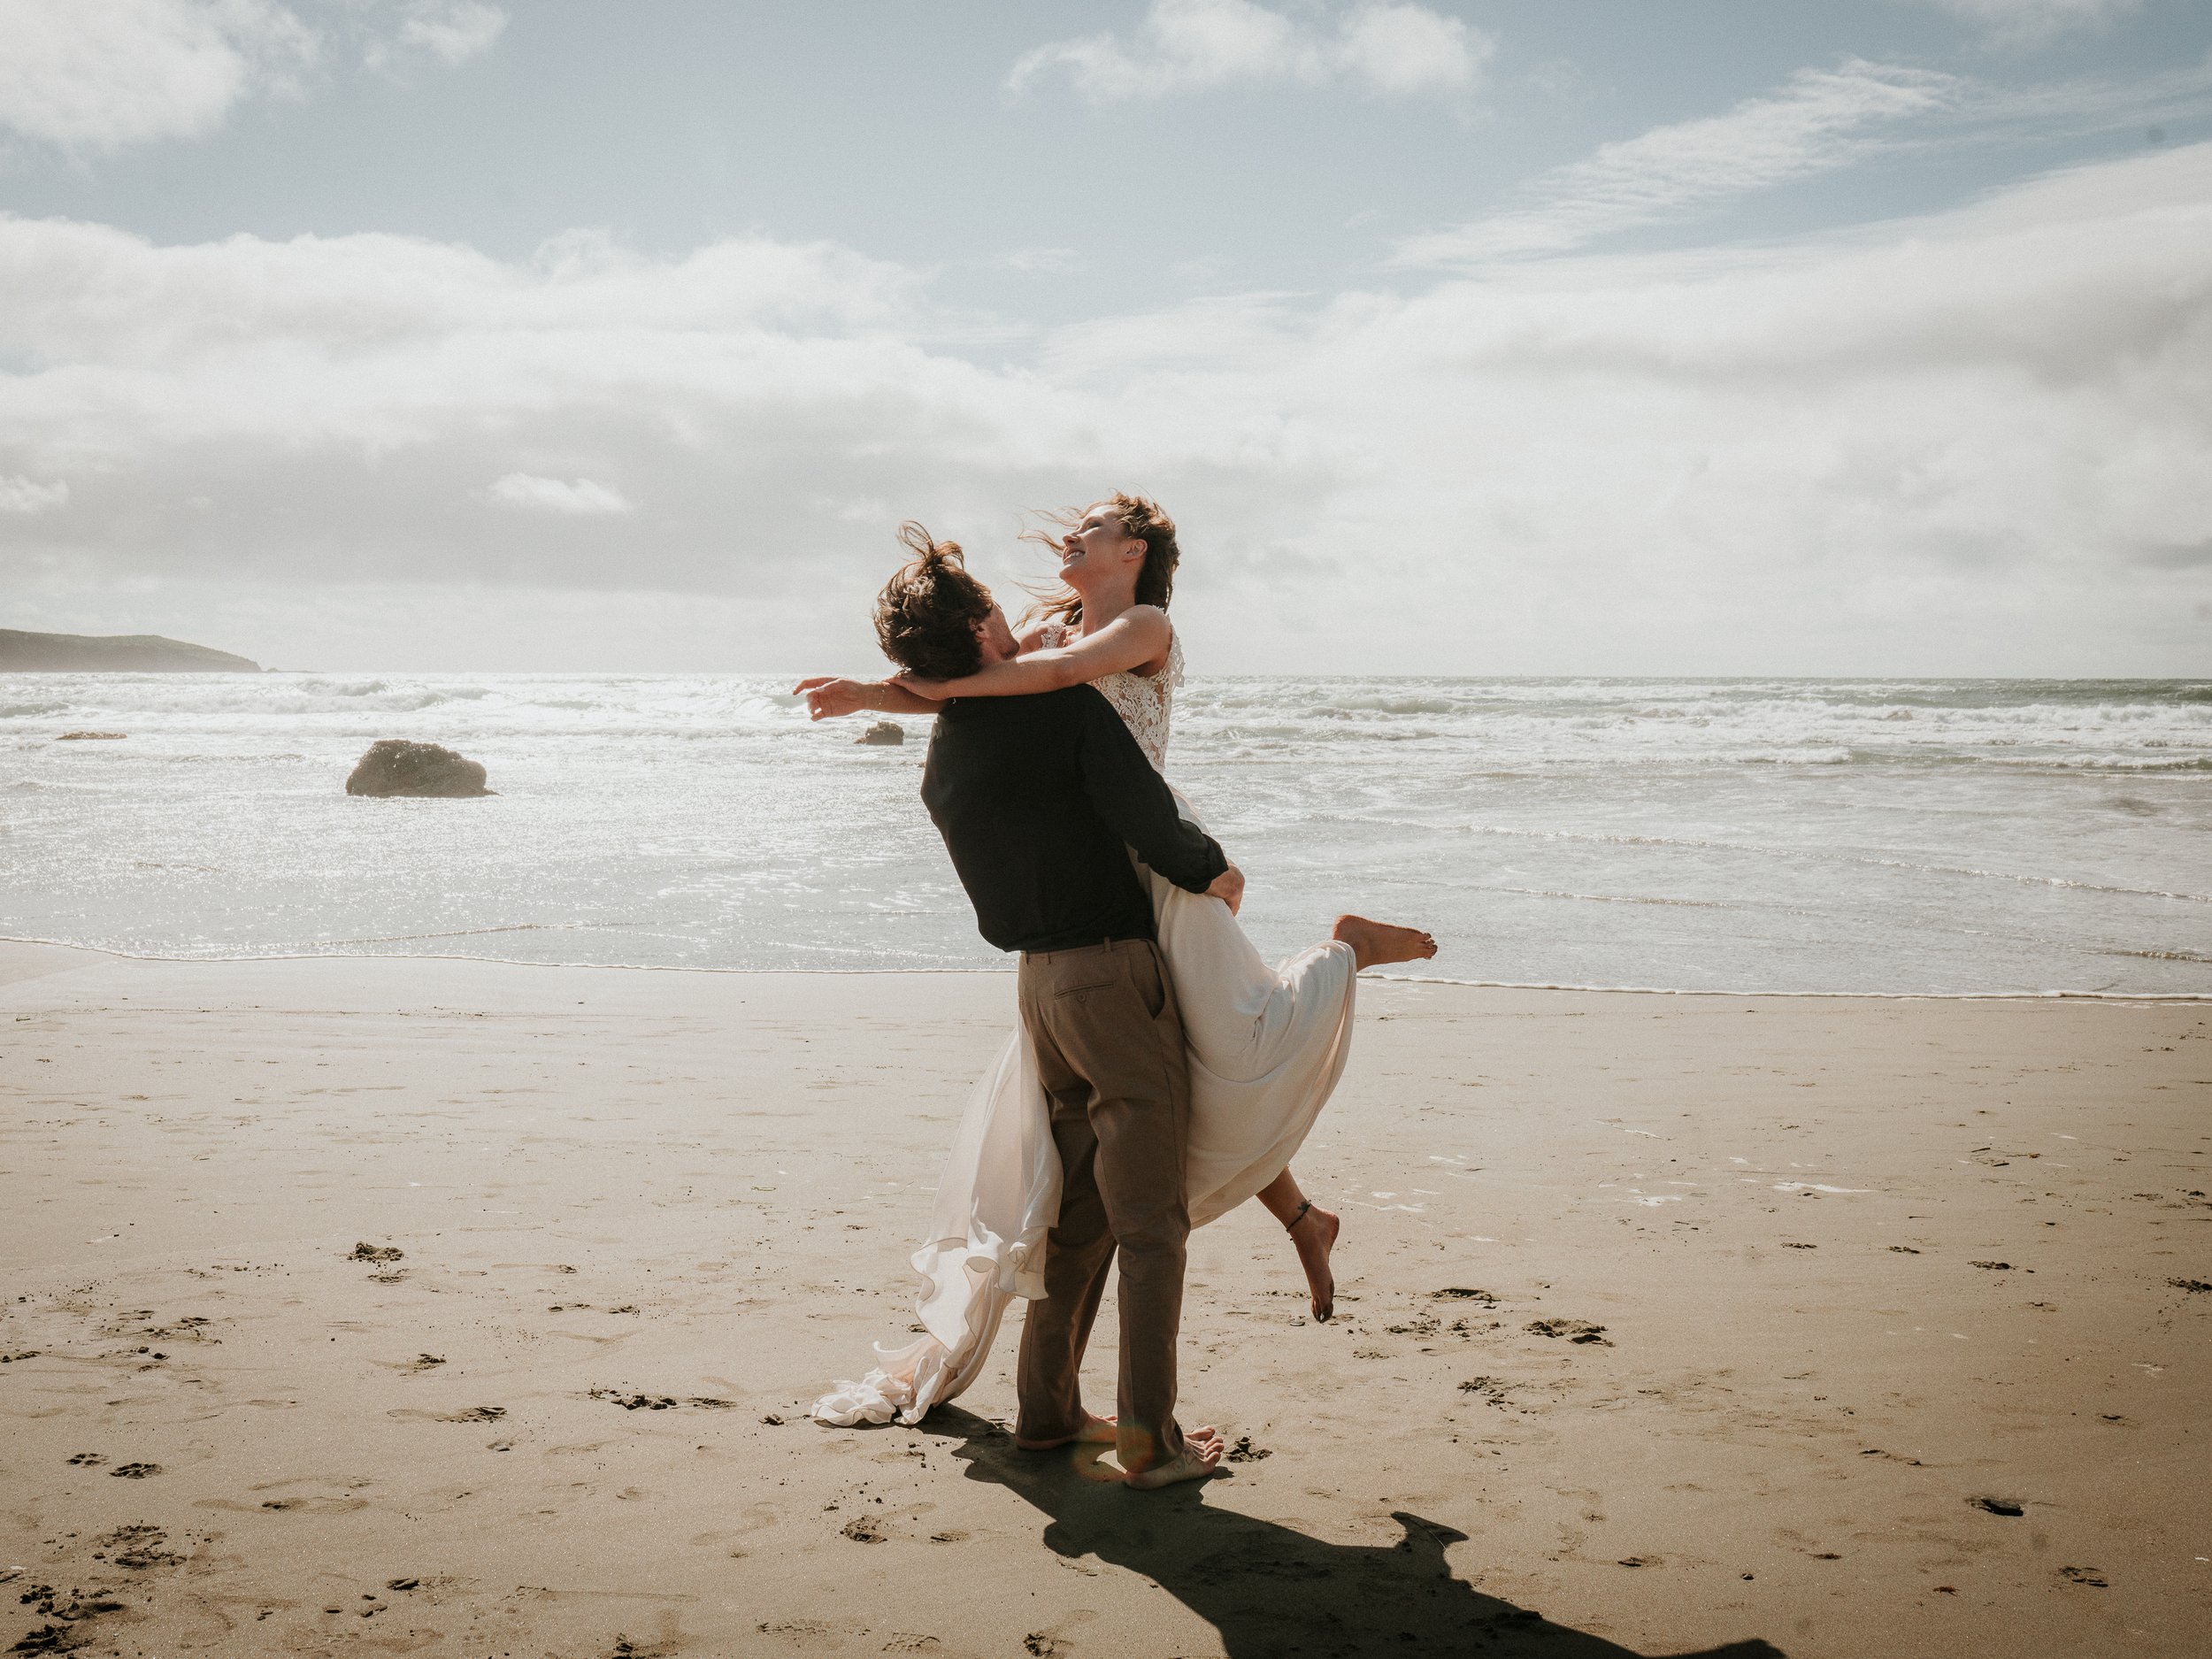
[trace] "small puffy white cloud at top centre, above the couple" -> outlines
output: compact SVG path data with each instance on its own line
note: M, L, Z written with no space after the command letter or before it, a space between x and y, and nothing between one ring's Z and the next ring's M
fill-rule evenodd
M1416 4L1369 0L1323 27L1252 0L1152 0L1135 46L1115 35L1055 40L1022 53L1006 86L1020 93L1066 71L1093 104L1265 80L1354 80L1407 95L1464 91L1493 53L1480 29Z

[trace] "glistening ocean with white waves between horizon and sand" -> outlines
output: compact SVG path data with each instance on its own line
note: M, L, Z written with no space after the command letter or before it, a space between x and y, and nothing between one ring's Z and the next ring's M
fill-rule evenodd
M161 958L993 969L922 814L748 675L0 675L0 933ZM58 741L71 730L122 741ZM495 796L343 792L372 739ZM1270 956L1776 993L2212 995L2212 684L1192 677Z

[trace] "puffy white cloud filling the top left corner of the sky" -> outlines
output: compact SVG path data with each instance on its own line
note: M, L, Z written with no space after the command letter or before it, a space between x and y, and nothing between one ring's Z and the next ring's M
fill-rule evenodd
M507 24L482 0L367 0L325 18L276 0L9 0L0 126L82 153L199 137L248 97L301 95L334 58L418 49L458 64Z

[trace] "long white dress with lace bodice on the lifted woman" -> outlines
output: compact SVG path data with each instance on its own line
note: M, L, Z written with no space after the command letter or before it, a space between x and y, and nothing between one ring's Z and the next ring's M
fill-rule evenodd
M1048 646L1064 635L1048 635ZM1121 714L1155 768L1166 770L1183 646L1150 677L1091 681ZM1183 816L1197 814L1181 794ZM1314 945L1267 967L1219 898L1186 894L1141 863L1159 951L1175 980L1190 1048L1190 1144L1183 1190L1190 1225L1228 1214L1290 1164L1345 1071L1352 1042L1352 947ZM1060 1217L1060 1155L1051 1104L1029 1035L1013 1037L975 1084L938 1181L929 1239L914 1252L922 1276L905 1347L876 1345L876 1369L814 1402L830 1425L920 1422L956 1398L991 1356L1015 1296L1044 1294L1046 1232Z

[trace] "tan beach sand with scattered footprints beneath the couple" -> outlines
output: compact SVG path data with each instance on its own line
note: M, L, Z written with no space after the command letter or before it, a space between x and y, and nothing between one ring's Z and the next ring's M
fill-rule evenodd
M1363 984L1139 1495L805 1420L1011 1000L0 947L0 1648L2205 1652L2205 1004Z

